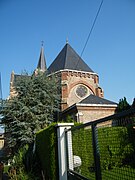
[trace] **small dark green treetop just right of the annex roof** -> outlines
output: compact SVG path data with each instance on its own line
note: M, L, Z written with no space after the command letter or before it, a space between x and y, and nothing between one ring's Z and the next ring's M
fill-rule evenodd
M129 105L129 103L127 102L127 99L126 99L126 97L124 97L124 98L122 98L122 99L120 99L119 100L119 104L118 104L118 107L117 107L117 112L122 112L122 111L124 111L124 110L128 110L128 109L130 109L130 105Z

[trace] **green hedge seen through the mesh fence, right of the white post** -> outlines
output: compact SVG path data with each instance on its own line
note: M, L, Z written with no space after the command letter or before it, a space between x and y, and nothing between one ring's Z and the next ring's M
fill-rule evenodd
M98 128L101 169L135 168L135 133L133 128ZM73 154L80 156L82 165L77 169L82 175L94 179L94 156L91 129L73 132Z

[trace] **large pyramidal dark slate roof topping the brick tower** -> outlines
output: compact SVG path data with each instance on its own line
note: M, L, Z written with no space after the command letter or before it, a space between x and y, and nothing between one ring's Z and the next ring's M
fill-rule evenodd
M48 73L64 69L93 72L68 43L49 66Z

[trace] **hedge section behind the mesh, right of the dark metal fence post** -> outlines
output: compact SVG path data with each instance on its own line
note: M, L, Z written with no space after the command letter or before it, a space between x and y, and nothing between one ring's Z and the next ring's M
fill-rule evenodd
M107 127L98 130L101 168L104 170L131 165L134 145L132 129L126 127ZM132 134L134 136L134 134ZM130 158L130 162L127 159Z

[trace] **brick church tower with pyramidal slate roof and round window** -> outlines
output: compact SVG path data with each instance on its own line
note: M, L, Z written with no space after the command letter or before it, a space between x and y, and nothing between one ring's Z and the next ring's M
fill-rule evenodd
M48 73L57 73L61 77L61 110L93 94L103 97L99 87L99 77L66 43L56 59L48 68Z

